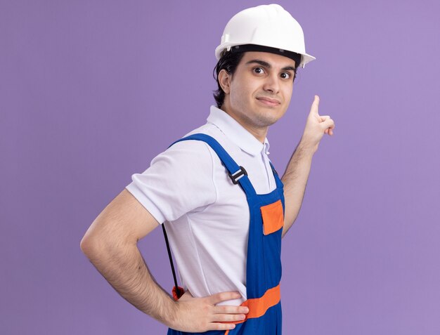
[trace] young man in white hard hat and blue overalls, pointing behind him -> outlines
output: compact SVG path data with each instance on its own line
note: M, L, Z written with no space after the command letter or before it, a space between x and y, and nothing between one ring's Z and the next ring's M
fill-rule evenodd
M335 124L318 114L315 96L281 182L266 134L287 110L297 68L314 59L301 27L278 5L248 8L226 25L216 57L217 107L207 124L134 174L81 247L119 294L169 334L281 334L280 239L298 215L313 154ZM185 289L178 301L136 247L161 223Z

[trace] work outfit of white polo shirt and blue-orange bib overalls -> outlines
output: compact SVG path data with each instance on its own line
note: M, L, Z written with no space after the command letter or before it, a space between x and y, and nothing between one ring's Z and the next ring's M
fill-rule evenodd
M250 307L246 322L238 323L229 334L247 334L239 333L240 329L250 331L249 334L280 334L278 284L283 189L267 158L268 142L259 143L238 122L214 106L207 125L190 135L200 132L212 139L180 140L153 159L150 169L134 174L127 190L158 222L165 222L185 289L193 296L240 291L241 299L221 303L249 304ZM220 145L213 145L215 142ZM195 155L190 145L199 155ZM207 147L209 154L203 151ZM222 147L227 148L228 153ZM202 160L210 155L208 161L212 166ZM173 160L174 157L177 159ZM190 157L195 165L183 162L183 157ZM232 157L245 167L248 176L234 174L240 168ZM175 166L178 162L183 162L179 169ZM205 165L199 169L199 163ZM173 169L170 166L174 166ZM179 178L174 176L179 173ZM228 173L239 178L237 185ZM166 176L172 179L168 184ZM183 185L176 185L179 183ZM175 193L181 192L179 188L192 192L188 199L173 198ZM169 194L165 195L166 192ZM198 193L200 199L197 199ZM274 329L278 329L278 333Z

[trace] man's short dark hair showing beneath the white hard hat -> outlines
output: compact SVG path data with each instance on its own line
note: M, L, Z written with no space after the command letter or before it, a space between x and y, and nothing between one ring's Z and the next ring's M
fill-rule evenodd
M268 48L266 48L268 49ZM245 51L242 52L232 52L232 51L226 51L221 55L221 58L217 62L216 66L214 67L214 70L212 71L212 76L217 81L218 88L214 91L214 99L216 100L217 107L221 108L221 106L224 103L225 100L225 93L223 91L223 88L220 86L219 82L219 73L221 70L226 70L228 74L234 74L235 70L237 70L238 64L240 63L240 60L243 58L243 55L245 54ZM295 81L295 78L297 77L297 69L299 63L301 63L301 55L295 53L295 55L292 57L293 60L295 60L295 74L293 77L293 80Z

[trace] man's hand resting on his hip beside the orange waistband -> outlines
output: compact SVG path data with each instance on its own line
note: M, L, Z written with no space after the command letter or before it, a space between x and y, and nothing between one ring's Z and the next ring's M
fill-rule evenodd
M217 303L241 298L238 292L221 292L193 298L189 291L176 301L174 320L170 320L169 327L179 331L203 332L209 330L234 329L233 321L245 320L249 308L244 306L216 306Z

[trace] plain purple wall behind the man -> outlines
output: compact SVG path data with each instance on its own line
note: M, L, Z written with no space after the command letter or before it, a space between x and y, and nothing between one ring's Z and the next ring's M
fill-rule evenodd
M269 131L283 171L313 95L336 122L283 240L285 334L440 334L438 1L279 1L306 51ZM262 1L1 1L1 334L165 334L89 263L91 222L205 123L224 25ZM155 230L139 246L164 287Z

